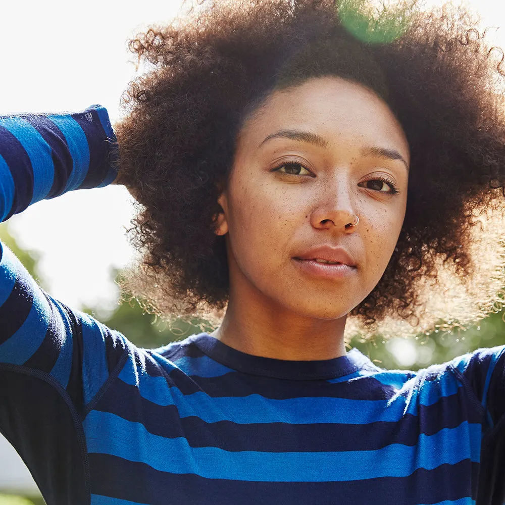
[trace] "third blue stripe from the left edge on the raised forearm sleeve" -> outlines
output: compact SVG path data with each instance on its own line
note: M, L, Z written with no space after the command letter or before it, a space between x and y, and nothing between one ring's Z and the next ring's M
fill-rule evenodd
M73 168L65 191L77 189L89 170L89 146L86 135L71 116L48 116L62 131L73 160Z

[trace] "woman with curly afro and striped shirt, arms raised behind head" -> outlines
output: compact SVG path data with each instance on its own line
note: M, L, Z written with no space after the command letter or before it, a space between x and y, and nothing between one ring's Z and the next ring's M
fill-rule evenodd
M0 121L4 219L115 179L143 206L128 287L160 313L226 307L211 335L139 349L3 248L0 429L47 503L505 498L503 347L417 373L344 347L347 316L434 324L446 265L475 294L472 223L505 180L500 66L463 11L364 25L359 7L204 4L139 36L153 69L119 164L99 106Z

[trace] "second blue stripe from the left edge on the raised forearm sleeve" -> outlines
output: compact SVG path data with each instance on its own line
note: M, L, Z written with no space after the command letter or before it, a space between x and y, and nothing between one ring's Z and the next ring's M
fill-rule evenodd
M30 205L43 200L51 191L55 167L51 146L28 121L20 117L5 118L2 126L23 146L33 170L33 194Z

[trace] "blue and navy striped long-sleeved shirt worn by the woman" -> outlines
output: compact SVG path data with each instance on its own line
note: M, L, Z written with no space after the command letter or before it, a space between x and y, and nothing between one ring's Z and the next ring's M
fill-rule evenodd
M0 117L0 216L114 180L105 109ZM469 505L505 498L505 352L418 372L357 350L141 349L0 245L0 431L48 505Z

